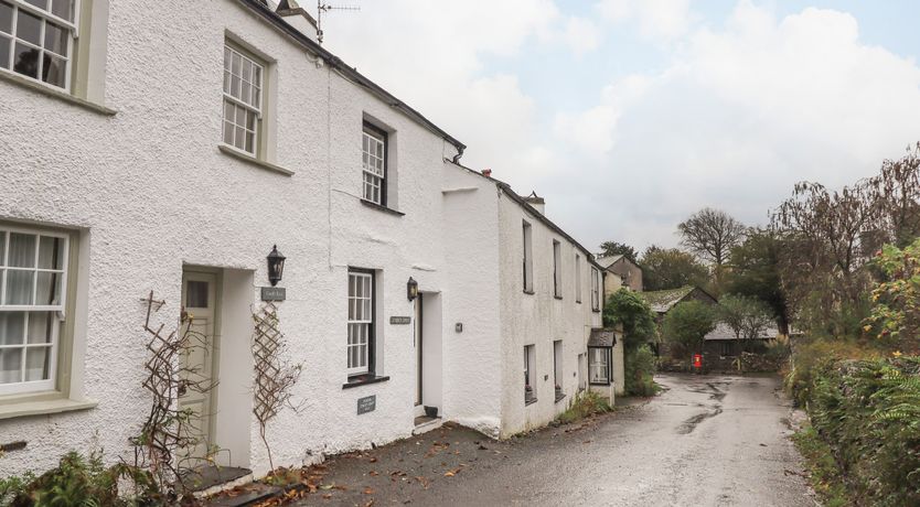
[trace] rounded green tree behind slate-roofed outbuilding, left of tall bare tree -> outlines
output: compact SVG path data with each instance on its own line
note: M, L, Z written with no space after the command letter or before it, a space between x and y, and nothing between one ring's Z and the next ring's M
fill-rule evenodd
M709 271L692 255L676 248L649 247L639 262L648 291L706 285Z

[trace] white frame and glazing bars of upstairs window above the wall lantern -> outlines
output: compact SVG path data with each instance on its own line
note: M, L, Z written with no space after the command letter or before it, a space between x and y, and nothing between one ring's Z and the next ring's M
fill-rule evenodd
M238 56L239 60L239 76L233 73L233 58L234 56ZM229 58L229 63L228 60ZM246 79L246 76L243 76L243 67L246 64L253 66L253 72L249 74L249 80ZM258 68L258 79L255 76L255 69ZM236 77L239 79L239 94L240 97L236 97L233 94L233 78ZM258 80L258 83L255 83ZM259 143L261 142L261 133L263 133L263 119L264 119L264 110L265 110L265 95L266 95L266 64L254 56L250 56L248 53L237 48L234 44L229 42L224 43L224 67L223 67L223 90L224 90L224 100L222 101L221 107L221 143L232 150L236 150L240 153L245 153L249 157L259 158L260 149ZM249 101L246 101L243 94L243 87L245 85L249 85ZM258 91L258 99L252 100L253 90ZM255 104L253 104L255 103ZM234 111L234 118L227 118L227 107L232 107ZM246 121L240 125L236 121L239 111L243 110L244 114L253 114L255 115L255 122L253 125L253 130L246 125ZM227 128L231 128L231 141L227 142ZM239 129L243 129L243 147L237 145L237 133L239 133ZM253 150L249 151L246 149L246 134L253 134Z

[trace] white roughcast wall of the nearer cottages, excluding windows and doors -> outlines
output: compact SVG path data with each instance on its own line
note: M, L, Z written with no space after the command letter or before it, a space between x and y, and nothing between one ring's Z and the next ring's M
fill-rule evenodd
M226 33L277 62L274 162L295 171L292 177L217 150ZM445 291L448 301L440 190L442 158L453 147L328 66L318 68L234 1L113 2L105 55L105 105L118 111L114 117L0 82L0 118L10 119L0 130L0 219L84 231L78 303L85 311L76 319L85 322L75 339L85 342L85 354L76 362L74 396L98 401L87 411L0 420L0 441L28 442L0 459L0 475L51 466L72 449L127 457L128 439L149 408L140 298L156 291L168 301L159 319L175 322L182 267L190 263L248 272L255 303L276 242L288 257L282 330L291 359L304 364L295 392L301 412L282 412L269 432L276 464L408 435L411 326L383 324L382 374L389 381L342 389L346 272L349 266L383 270L384 322L411 315L409 276L422 290ZM403 217L357 199L364 114L396 131ZM454 319L449 313L446 321ZM250 371L224 375L238 385ZM356 399L371 393L376 411L356 416ZM244 461L265 472L254 421L249 428L253 455Z

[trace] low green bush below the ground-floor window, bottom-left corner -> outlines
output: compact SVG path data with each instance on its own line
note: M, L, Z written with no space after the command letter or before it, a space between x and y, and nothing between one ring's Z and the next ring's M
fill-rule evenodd
M119 481L132 484L133 490L119 495ZM153 477L145 471L124 464L106 467L100 453L84 457L68 452L40 476L25 473L21 477L0 479L0 506L159 506L168 505L157 489Z

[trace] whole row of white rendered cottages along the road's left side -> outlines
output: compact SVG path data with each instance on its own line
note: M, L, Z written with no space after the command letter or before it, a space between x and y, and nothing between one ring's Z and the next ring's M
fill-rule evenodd
M217 387L180 401L204 441L266 472L252 314L274 245L303 365L300 411L269 427L276 464L407 436L426 406L507 435L586 382L590 255L282 7L0 0L0 476L130 454L151 291L158 322L184 309L207 335Z

